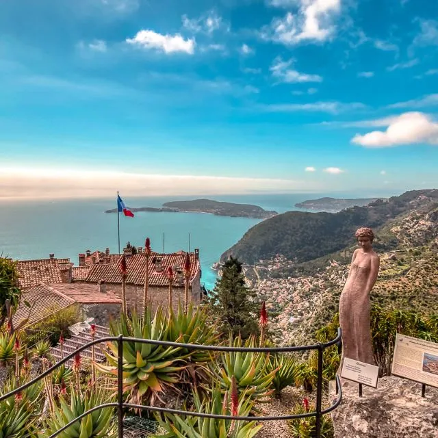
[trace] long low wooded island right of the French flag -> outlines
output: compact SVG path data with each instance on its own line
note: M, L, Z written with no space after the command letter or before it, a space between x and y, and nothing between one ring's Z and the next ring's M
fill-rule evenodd
M235 204L212 201L211 199L194 199L192 201L171 201L164 203L163 207L129 207L134 213L136 211L153 211L166 213L209 213L216 216L231 216L233 218L256 218L267 219L276 216L276 211L265 210L258 205ZM105 213L117 213L117 209L106 210Z

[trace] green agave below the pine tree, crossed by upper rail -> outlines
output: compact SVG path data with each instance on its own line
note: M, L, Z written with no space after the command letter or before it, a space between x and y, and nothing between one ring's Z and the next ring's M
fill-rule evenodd
M230 338L230 346L242 347L242 338ZM246 347L254 348L256 346L255 337L250 337L246 343ZM237 387L248 392L253 400L266 398L272 394L272 380L277 372L274 369L267 372L269 357L264 353L257 352L224 352L221 355L222 367L216 364L216 374L222 386L223 391L231 388L233 376L237 380Z

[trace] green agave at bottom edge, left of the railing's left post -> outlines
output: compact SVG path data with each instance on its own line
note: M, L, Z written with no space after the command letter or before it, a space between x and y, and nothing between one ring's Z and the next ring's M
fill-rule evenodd
M72 391L70 404L64 397L60 397L59 406L51 413L46 420L46 428L41 437L49 437L53 433L66 426L74 418L79 417L92 407L110 402L107 394L99 390L88 390L84 394ZM112 424L113 409L107 407L98 409L81 420L75 422L64 432L60 433L60 438L116 438L117 433Z

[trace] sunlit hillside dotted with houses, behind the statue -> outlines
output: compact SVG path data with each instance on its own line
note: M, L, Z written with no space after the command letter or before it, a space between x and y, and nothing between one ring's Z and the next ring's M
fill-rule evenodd
M388 242L392 249L382 249ZM378 246L381 269L372 302L387 309L438 314L438 202L389 220L376 233L374 248ZM275 257L254 268L260 280L253 287L268 304L278 342L309 342L310 334L333 318L355 248L299 265Z

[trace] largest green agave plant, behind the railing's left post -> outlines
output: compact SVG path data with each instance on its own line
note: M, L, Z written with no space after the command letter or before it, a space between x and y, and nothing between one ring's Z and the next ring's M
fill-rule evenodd
M168 324L161 308L157 309L153 319L149 309L143 320L135 314L130 319L122 315L120 322L110 324L110 331L112 335L121 333L125 337L157 341L168 339ZM117 342L110 343L109 348L112 355L105 355L110 365L94 365L96 370L117 376ZM125 391L129 391L131 400L138 402L147 399L153 404L166 387L175 387L175 383L179 381L176 373L184 368L174 365L181 365L181 360L185 359L184 355L179 355L180 350L180 347L166 348L140 342L123 342L123 387Z

